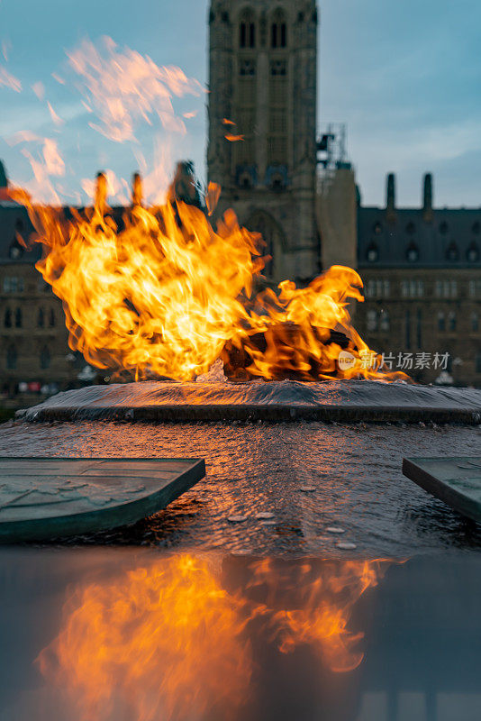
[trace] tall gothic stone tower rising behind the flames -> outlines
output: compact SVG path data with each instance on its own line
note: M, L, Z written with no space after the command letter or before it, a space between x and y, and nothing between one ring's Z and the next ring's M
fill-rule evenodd
M219 211L262 233L273 283L319 269L317 22L315 0L210 7L208 177L222 186Z

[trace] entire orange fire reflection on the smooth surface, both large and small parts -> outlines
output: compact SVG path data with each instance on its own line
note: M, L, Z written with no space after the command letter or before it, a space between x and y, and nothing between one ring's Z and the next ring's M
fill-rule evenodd
M183 721L238 717L259 639L283 654L309 644L327 671L358 667L349 617L388 561L249 561L241 580L236 562L174 555L77 589L42 674L85 721Z

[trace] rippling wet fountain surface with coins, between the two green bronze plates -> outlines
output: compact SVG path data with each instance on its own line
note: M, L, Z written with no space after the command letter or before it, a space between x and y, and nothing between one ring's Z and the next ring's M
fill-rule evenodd
M207 475L156 516L63 543L407 557L481 548L481 529L401 471L403 456L476 455L479 427L295 424L0 425L2 456L195 457ZM313 488L309 493L302 488ZM261 520L259 514L274 514ZM247 516L231 523L231 516ZM342 528L331 534L328 528ZM339 548L339 543L356 546Z

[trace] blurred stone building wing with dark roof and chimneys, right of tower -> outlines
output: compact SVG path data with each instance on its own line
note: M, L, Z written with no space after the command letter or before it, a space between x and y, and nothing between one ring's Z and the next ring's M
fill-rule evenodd
M402 353L410 376L433 382L434 355L448 353L453 382L481 386L480 245L481 208L434 208L430 174L420 207L396 207L392 174L386 207L358 207L366 302L356 325L371 348L395 356L394 368Z

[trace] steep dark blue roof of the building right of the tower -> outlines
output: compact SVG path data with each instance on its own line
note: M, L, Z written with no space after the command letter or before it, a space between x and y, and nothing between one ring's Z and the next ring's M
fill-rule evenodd
M481 208L358 207L358 267L481 269Z

